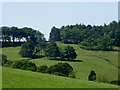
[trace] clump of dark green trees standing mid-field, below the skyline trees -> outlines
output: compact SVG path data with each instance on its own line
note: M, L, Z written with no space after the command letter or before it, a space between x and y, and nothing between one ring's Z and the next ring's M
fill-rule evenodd
M51 60L74 60L77 57L75 49L71 46L62 49L53 41L34 43L30 39L22 45L19 54L29 58L46 56Z

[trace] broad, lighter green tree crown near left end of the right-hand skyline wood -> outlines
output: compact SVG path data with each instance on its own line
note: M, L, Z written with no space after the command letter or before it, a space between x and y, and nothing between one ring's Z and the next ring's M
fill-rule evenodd
M76 25L68 25L66 27L61 27L61 39L64 43L80 43L85 37L84 28L79 28L78 24ZM82 32L82 34L81 34Z

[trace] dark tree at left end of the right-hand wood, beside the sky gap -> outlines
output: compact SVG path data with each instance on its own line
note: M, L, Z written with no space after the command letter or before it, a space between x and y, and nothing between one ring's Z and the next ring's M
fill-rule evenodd
M61 41L60 29L56 27L52 27L50 36L49 36L49 41Z

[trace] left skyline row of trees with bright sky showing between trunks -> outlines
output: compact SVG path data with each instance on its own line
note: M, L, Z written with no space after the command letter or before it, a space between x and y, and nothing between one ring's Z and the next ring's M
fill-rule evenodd
M0 28L0 32L2 32L0 39L4 43L3 46L18 46L29 39L34 43L41 42L43 39L45 40L44 35L40 31L29 27L3 26Z

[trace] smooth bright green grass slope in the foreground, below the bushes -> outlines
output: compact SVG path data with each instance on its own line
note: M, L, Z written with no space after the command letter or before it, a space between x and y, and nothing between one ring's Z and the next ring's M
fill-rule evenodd
M11 87L117 88L118 86L3 67L3 88Z

